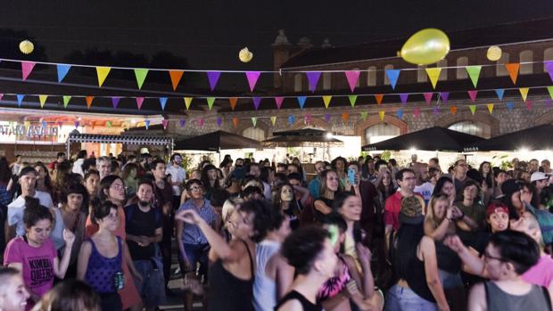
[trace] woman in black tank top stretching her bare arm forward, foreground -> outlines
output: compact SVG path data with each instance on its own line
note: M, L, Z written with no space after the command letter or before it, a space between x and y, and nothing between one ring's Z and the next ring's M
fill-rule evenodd
M276 209L265 201L243 203L227 222L232 235L228 243L194 209L177 214L177 220L197 225L211 246L210 258L214 263L208 272L208 310L253 311L255 242L265 237L275 213Z

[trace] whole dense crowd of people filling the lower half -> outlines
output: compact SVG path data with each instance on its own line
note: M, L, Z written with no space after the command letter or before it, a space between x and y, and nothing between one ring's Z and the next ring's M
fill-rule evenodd
M0 310L551 310L549 160L182 161L0 158Z

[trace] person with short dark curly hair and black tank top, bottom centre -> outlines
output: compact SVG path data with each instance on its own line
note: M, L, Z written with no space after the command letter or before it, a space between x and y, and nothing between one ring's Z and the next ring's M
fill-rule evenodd
M337 257L328 232L316 226L305 226L290 234L281 247L297 276L276 311L320 311L317 301L320 287L334 276Z

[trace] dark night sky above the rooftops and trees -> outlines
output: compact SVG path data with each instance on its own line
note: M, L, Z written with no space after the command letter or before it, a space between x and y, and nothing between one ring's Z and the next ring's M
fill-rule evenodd
M0 28L28 31L49 61L96 47L167 50L196 69L269 70L277 29L293 43L310 37L320 45L330 37L347 45L426 27L447 32L551 16L551 0L17 0L2 4ZM248 64L237 60L245 45L254 53Z

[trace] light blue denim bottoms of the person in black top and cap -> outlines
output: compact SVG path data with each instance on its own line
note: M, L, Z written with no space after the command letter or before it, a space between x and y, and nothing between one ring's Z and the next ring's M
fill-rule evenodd
M438 306L418 296L415 291L398 284L388 291L386 311L438 311Z

